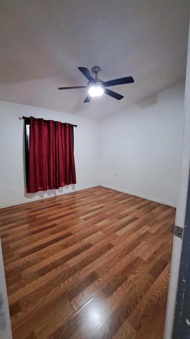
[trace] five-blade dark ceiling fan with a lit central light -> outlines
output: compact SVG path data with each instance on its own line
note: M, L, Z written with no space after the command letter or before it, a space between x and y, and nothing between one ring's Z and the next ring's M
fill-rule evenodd
M97 75L100 71L100 67L94 66L92 68L92 72L95 74L95 78L93 78L92 74L86 67L78 67L79 71L88 79L87 86L75 86L75 87L58 87L58 89L74 89L74 88L88 88L88 95L84 102L89 102L92 97L99 97L103 93L108 94L110 97L113 97L117 100L121 100L123 95L120 95L116 92L111 91L106 87L129 84L134 82L133 77L125 77L120 79L114 79L110 81L102 81L98 79Z

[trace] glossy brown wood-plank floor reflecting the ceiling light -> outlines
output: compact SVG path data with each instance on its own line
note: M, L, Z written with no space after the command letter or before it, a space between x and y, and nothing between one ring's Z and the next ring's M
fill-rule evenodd
M0 210L13 339L162 339L174 219L104 187Z

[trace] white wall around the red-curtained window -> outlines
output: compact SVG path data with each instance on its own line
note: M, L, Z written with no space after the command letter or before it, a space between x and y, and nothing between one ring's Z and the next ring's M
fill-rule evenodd
M22 116L52 119L77 124L74 127L74 157L76 184L59 190L27 194L23 163ZM0 207L16 205L41 197L80 190L99 184L99 128L98 120L78 117L47 109L0 101ZM16 194L11 190L15 189Z

